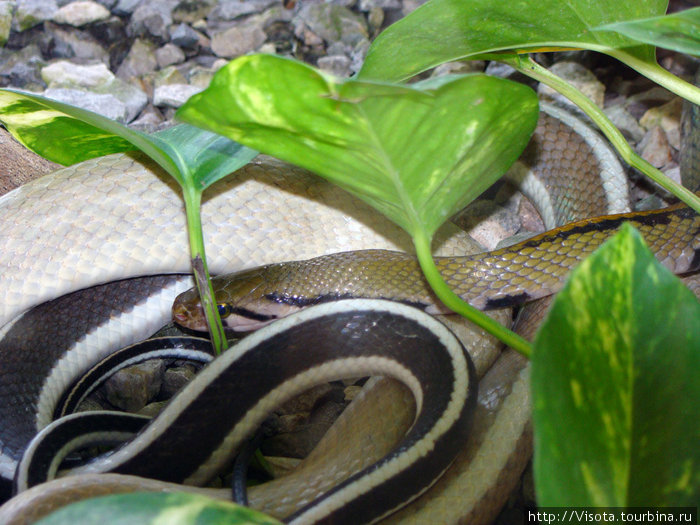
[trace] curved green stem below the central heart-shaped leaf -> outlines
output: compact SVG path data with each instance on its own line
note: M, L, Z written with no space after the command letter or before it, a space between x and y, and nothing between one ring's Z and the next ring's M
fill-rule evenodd
M428 284L430 284L435 295L438 296L438 299L440 299L445 306L455 313L466 317L472 323L480 326L525 357L530 357L532 353L532 346L530 343L515 332L508 330L503 325L491 319L484 312L474 308L450 289L435 265L430 251L430 239L425 232L419 230L419 232L413 236L413 244L416 247L418 263L423 270Z

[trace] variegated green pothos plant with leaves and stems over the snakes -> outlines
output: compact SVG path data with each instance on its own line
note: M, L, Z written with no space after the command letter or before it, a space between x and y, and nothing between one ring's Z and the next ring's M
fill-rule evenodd
M700 91L656 65L648 45L683 45L697 54L698 11L629 22L662 15L666 3L629 4L432 0L380 35L357 79L338 81L273 56L243 57L178 112L190 123L305 166L375 206L412 235L426 278L445 304L532 355L542 505L683 506L700 499L700 305L628 228L572 273L534 351L475 311L442 281L430 239L522 151L535 125L536 99L527 88L483 75L410 86L390 81L446 60L509 63L579 103L623 158L700 210L694 195L636 157L590 101L527 55L561 47L606 52L700 101ZM147 136L36 96L5 90L0 100L8 129L52 160L70 164L137 148L173 175L183 187L191 251L201 270L195 273L206 297L201 193L254 151L190 126ZM56 142L76 144L76 152L56 152ZM217 326L211 295L204 303ZM222 339L220 326L218 321L212 330L215 342ZM574 442L585 446L572 450Z

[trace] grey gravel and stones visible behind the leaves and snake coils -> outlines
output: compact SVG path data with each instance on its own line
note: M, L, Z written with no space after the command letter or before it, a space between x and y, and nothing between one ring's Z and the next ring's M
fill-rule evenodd
M243 54L283 54L340 77L350 76L362 65L371 39L421 3L423 0L0 0L0 86L37 92L150 131L169 125L177 107L204 89L220 67ZM696 4L676 2L673 6ZM644 158L678 179L682 104L676 97L600 55L542 54L538 60L586 92ZM687 57L672 53L660 53L660 61L688 79L697 67ZM483 62L448 64L431 74L465 69L517 78L507 68ZM556 98L547 89L538 89L543 97ZM642 197L647 193L640 190ZM646 198L646 206L659 203L657 197ZM489 249L500 238L520 231L523 220L528 220L526 205L519 202L482 208L480 215L490 216L492 225L477 228L475 234ZM120 400L123 388L119 385L108 386L103 396L112 405L140 410L194 373L182 363L150 368L137 373L136 381L142 386L125 401ZM141 375L155 379L142 380ZM123 379L115 379L119 381ZM328 413L337 411L334 407L342 406L344 397L342 388L323 387L304 406L318 405L318 399L322 405L332 402L331 408L323 408L317 416L325 422ZM299 410L278 414L280 426L297 421ZM311 416L303 417L307 417L307 426L313 426ZM526 478L526 487L528 483ZM525 492L526 500L532 498L531 487ZM506 509L502 522L515 523L513 519L515 515Z

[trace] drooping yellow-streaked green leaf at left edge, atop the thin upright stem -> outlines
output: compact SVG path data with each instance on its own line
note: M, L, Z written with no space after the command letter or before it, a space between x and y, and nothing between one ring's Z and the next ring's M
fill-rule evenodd
M192 126L147 135L92 111L11 89L0 89L0 122L29 149L66 166L139 149L183 187L204 188L257 154Z

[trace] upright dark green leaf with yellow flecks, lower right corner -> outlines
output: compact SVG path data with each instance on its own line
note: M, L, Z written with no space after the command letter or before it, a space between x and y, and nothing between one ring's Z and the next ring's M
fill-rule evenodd
M697 505L699 374L700 303L626 225L535 339L538 504Z

